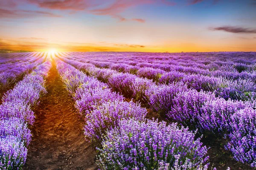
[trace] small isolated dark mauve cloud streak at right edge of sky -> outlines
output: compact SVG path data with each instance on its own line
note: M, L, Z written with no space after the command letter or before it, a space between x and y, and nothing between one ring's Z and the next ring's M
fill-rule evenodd
M256 33L255 28L243 28L243 27L236 27L236 26L210 27L209 30L226 31L226 32L230 32L230 33L246 33L246 34Z

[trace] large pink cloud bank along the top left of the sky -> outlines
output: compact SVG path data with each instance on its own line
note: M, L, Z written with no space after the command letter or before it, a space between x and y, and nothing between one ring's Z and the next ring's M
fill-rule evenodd
M121 15L122 12L128 8L145 5L145 4L163 4L168 6L175 6L176 3L172 0L8 0L0 2L0 6L4 8L17 7L20 3L36 5L39 8L49 10L61 10L68 11L70 14L76 13L77 11L84 11L94 15L108 15L112 18L116 18L119 21L128 21L134 19L128 19ZM4 16L14 17L18 16L21 11L5 11ZM1 13L4 13L3 11ZM0 13L0 14L1 14ZM11 14L10 14L11 13ZM48 13L48 12L47 12ZM59 17L55 14L45 13L44 16L48 17ZM144 19L136 20L140 23L145 22Z

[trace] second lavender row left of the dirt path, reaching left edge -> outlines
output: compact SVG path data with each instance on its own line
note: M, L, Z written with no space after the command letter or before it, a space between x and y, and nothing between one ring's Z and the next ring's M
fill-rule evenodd
M5 71L0 73L0 92L5 91L9 85L17 81L19 77L28 73L35 68L38 64L44 62L46 56L35 56L35 58L29 59L27 62L21 62L15 65L3 67Z

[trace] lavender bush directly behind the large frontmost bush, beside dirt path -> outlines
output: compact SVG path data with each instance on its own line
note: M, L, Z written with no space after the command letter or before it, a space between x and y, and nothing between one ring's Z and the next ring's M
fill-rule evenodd
M93 144L100 144L107 130L118 127L123 119L143 120L147 111L134 102L120 100L104 102L85 116L84 135Z

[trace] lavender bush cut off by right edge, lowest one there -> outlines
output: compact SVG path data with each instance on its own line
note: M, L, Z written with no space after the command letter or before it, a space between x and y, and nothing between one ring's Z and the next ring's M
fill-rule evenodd
M256 110L245 108L230 118L230 141L227 148L236 160L256 167Z

